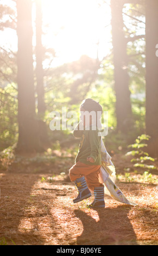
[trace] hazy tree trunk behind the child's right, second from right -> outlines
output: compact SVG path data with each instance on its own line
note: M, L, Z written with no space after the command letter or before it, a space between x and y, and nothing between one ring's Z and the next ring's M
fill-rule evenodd
M111 25L117 129L127 132L131 126L132 111L129 90L127 41L123 32L123 4L123 1L111 0Z

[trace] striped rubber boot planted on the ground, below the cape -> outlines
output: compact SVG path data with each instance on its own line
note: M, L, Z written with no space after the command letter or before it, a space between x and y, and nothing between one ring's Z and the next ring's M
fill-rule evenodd
M105 208L104 187L94 187L94 201L87 205L89 208Z

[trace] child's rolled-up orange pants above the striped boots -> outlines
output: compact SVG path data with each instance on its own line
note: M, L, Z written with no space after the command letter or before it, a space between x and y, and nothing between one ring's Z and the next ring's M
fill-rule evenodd
M69 169L69 178L75 181L81 176L85 176L87 186L94 191L94 187L104 186L99 182L99 170L101 166L91 166L78 161Z

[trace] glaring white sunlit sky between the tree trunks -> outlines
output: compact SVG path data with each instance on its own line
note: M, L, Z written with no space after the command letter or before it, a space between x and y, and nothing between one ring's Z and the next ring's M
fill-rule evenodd
M83 54L106 56L111 40L108 5L99 7L96 0L44 0L42 4L43 21L48 25L43 28L43 43L55 48L56 60L70 62Z

